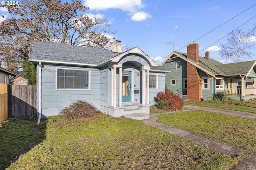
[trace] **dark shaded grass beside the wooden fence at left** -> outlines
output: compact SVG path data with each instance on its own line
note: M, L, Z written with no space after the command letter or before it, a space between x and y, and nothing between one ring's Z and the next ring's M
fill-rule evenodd
M46 139L46 122L42 118L37 125L34 119L25 117L8 119L0 125L0 170Z

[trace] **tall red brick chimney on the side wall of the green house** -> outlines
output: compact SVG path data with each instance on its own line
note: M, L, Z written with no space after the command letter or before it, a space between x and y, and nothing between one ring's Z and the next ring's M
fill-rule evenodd
M199 61L198 44L193 43L187 47L188 59L198 63ZM202 96L202 82L198 74L198 69L187 63L187 96L189 100L200 101Z

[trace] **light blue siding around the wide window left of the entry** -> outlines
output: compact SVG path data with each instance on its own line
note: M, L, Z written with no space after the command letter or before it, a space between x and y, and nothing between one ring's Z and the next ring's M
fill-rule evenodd
M86 100L100 109L100 70L96 68L84 68L76 66L52 65L42 63L42 115L57 115L61 109L76 102ZM63 69L90 70L90 90L55 90L56 67ZM39 68L37 67L37 82L39 83ZM39 102L39 84L37 84L37 109Z

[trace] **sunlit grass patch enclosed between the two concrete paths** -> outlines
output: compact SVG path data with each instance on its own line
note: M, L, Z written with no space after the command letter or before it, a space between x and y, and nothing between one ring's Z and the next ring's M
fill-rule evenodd
M158 115L159 122L256 151L256 119L202 110Z

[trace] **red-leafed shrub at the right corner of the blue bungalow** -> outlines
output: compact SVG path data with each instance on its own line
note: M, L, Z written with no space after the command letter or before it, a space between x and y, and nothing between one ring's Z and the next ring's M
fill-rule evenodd
M160 109L180 110L183 106L182 98L171 92L168 88L159 92L156 96L156 107Z

